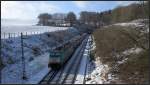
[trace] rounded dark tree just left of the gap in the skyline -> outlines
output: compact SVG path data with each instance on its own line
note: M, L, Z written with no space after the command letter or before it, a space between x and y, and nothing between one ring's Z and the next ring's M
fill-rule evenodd
M73 12L69 12L65 20L72 26L76 22L76 15Z

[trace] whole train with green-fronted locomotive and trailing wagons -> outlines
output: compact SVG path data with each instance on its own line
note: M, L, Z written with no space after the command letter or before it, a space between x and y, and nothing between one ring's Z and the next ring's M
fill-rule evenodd
M57 47L49 52L48 67L52 69L59 69L65 64L67 60L72 56L76 48L81 44L82 40L87 34L82 34L74 37L66 42L64 45Z

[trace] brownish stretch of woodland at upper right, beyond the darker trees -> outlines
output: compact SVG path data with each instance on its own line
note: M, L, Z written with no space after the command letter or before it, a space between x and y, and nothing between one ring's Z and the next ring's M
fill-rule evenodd
M102 21L106 24L128 22L139 18L149 17L149 3L139 2L128 6L119 6L113 10L100 13Z

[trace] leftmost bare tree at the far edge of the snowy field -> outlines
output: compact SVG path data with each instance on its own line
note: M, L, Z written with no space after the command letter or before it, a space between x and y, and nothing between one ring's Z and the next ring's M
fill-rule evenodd
M49 25L49 19L51 19L52 16L48 13L42 13L38 16L39 22L38 24L40 25Z

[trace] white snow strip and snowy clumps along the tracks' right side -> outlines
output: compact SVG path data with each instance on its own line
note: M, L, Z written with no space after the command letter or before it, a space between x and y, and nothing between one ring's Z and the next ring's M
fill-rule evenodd
M88 41L92 39L92 36L89 36ZM95 49L95 42L93 42L90 46L90 43L87 42L86 49L84 50L83 59L80 64L79 72L76 77L75 84L84 84L84 74L86 84L103 84L106 81L106 73L109 68L108 65L102 64L99 59L97 61L90 62L88 51ZM98 57L99 58L99 57ZM86 68L87 64L87 68ZM86 72L85 72L86 70Z

